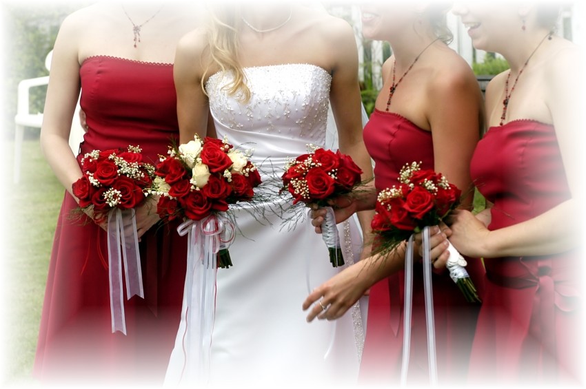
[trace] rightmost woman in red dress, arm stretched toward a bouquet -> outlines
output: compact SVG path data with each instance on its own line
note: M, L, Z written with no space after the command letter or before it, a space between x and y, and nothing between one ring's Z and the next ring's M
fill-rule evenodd
M576 45L553 34L560 6L468 2L454 8L474 47L511 67L489 83L489 130L472 176L492 202L474 218L459 211L450 240L483 257L486 297L474 337L470 378L482 383L576 383L583 325L578 222L583 143ZM582 119L583 120L583 119ZM553 228L552 228L553 227Z

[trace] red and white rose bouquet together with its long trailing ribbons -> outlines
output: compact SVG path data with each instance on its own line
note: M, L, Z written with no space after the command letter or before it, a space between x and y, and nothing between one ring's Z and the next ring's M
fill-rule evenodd
M234 239L235 220L230 204L250 202L261 184L251 151L241 151L223 140L198 136L170 147L156 167L151 193L159 197L161 218L183 220L177 231L188 234L182 317L192 326L183 341L186 359L198 376L207 377L215 317L216 270L232 266L228 246ZM195 329L197 328L197 329Z

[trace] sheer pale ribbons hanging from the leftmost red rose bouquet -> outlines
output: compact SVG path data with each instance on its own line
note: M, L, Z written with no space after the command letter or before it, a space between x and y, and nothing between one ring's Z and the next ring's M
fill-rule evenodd
M108 275L110 278L110 313L112 333L126 335L122 291L122 260L126 280L126 299L144 298L139 237L134 209L112 209L108 213Z

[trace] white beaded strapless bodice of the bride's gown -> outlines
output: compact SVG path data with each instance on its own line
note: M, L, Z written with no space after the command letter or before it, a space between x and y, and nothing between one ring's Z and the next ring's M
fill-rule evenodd
M307 144L325 143L332 76L307 63L244 68L250 101L230 95L232 74L213 74L205 84L219 138L254 147L253 162L270 160L281 169L287 158L307 152Z

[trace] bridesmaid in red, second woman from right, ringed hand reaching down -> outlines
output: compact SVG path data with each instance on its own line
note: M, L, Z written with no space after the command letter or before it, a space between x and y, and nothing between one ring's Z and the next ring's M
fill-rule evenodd
M469 65L446 45L452 38L445 26L447 6L420 2L363 4L363 34L389 41L394 55L383 65L383 89L364 129L367 149L376 162L374 189L340 200L337 215L373 209L376 192L398 183L403 165L421 161L471 193L469 160L483 127L482 95ZM469 198L465 200L469 204ZM323 211L314 212L319 226ZM441 383L465 377L478 308L468 304L447 271L446 236L434 227L432 255L438 377ZM368 288L370 302L366 340L361 363L363 383L398 382L403 348L403 289L405 246L388 257L375 255L350 266L310 294L308 309L321 299L329 305L321 312L315 304L307 319L336 319ZM443 270L440 270L443 269ZM470 261L468 271L476 286L482 280L480 261ZM429 383L423 266L414 266L412 349L409 383Z

